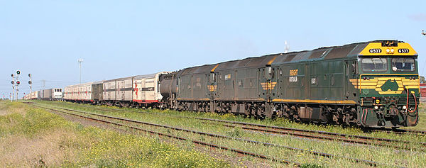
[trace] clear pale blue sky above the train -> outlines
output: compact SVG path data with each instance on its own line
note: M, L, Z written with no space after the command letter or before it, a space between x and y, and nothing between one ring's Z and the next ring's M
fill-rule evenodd
M426 1L0 0L0 96L370 40L410 43L425 75Z

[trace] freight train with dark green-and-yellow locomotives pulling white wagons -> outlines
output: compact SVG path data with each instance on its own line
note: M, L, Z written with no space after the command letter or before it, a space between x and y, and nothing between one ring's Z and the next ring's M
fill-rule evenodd
M419 120L417 70L417 52L408 43L374 40L66 86L64 99L405 127Z

